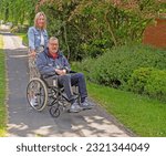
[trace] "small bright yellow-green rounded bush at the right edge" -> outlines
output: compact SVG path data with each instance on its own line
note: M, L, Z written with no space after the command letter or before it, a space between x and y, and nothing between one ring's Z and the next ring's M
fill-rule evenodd
M128 80L128 90L166 102L166 71L153 67L135 70Z

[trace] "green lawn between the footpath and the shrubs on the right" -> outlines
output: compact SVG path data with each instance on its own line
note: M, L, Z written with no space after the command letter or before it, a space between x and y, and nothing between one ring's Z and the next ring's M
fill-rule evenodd
M129 92L87 84L90 96L138 136L166 136L166 104Z

